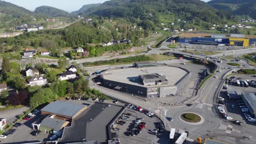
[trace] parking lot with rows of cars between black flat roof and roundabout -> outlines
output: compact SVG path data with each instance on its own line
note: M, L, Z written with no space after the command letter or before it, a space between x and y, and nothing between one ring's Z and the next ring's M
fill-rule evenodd
M127 107L126 113L130 113L128 115L124 115L126 117L129 117L128 120L121 119L121 121L124 121L124 125L116 124L114 125L114 128L120 129L120 131L113 130L112 133L117 133L118 138L120 139L121 143L166 143L166 133L158 133L156 134L154 129L158 128L158 122L161 122L158 117L149 117L146 114L130 109ZM129 116L130 115L130 116ZM136 126L136 120L139 118L142 118L141 122L146 123L145 127L141 130L141 133L133 134L133 136L130 134L130 131L135 128L136 130L139 130L139 123L138 126ZM133 129L134 130L134 129Z

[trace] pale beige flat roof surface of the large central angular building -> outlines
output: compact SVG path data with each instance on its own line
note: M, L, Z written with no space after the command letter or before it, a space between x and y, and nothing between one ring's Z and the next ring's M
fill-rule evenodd
M130 85L142 87L155 87L143 86L138 80L138 75L146 74L160 74L166 76L168 84L161 86L173 86L187 74L187 71L176 67L158 66L158 67L143 67L143 68L127 68L127 69L113 69L103 73L103 79L110 81L123 82Z

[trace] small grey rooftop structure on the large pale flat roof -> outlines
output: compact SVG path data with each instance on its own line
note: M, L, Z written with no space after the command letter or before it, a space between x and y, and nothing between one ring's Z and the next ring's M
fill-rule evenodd
M147 74L147 75L139 75L138 76L139 81L144 86L150 86L150 85L164 85L168 84L168 81L166 80L165 76L159 75L159 74Z

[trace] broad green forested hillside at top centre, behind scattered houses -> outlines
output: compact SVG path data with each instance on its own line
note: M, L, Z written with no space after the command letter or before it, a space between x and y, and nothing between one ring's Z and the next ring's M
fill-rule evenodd
M160 22L162 13L174 14L176 19L200 19L209 23L221 23L232 18L229 13L214 9L200 0L112 0L85 12L87 15L124 17L132 21L150 20L154 23Z

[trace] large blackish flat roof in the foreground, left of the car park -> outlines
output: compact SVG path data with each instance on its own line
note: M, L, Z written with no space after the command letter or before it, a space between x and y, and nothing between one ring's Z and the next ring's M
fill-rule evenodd
M59 143L75 141L97 141L105 143L111 139L110 124L112 124L126 107L120 105L95 102L88 106L72 121L71 127L63 131Z

